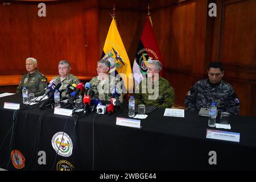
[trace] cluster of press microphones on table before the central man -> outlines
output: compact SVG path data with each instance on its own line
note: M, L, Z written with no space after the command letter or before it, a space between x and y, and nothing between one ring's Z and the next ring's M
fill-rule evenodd
M112 91L112 98L109 101L100 101L100 99L96 96L94 90L91 88L91 84L86 82L84 85L83 82L79 84L68 85L67 88L60 90L61 83L55 84L55 82L51 82L47 88L44 95L40 98L40 101L43 100L44 97L48 96L47 100L43 101L39 106L40 109L44 109L47 105L53 104L54 101L54 93L55 90L59 90L60 96L61 93L65 90L67 91L67 95L70 96L61 108L67 108L69 106L75 105L75 101L77 99L82 100L82 111L84 113L92 113L93 111L97 111L98 114L113 114L115 107L120 106L119 96L120 94L117 92L115 88ZM104 104L102 104L104 103Z

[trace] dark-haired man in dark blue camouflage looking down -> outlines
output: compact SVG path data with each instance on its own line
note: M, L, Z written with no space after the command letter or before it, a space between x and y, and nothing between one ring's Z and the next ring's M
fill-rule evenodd
M207 79L197 81L189 90L185 98L188 110L209 108L212 102L218 111L226 111L232 115L239 114L240 101L232 85L222 80L223 66L220 62L212 62L208 68Z

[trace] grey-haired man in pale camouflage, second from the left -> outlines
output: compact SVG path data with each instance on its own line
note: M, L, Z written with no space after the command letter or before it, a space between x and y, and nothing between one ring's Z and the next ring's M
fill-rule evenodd
M67 86L72 84L77 85L79 84L80 80L76 76L73 76L71 73L69 73L71 71L71 65L68 61L60 61L58 69L59 76L52 78L50 83L55 82L56 85L61 83L59 89L61 93L61 99L66 100L70 97L70 94L68 94Z

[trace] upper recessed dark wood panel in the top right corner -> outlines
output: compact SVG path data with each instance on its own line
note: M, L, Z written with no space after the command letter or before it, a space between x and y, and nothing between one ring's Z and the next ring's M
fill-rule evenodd
M256 72L256 1L225 1L222 5L220 61L250 65Z

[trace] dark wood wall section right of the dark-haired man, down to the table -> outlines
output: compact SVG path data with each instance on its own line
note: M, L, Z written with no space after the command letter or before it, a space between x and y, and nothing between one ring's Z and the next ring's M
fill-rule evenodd
M211 60L224 64L224 80L233 85L240 98L240 113L254 115L256 84L256 2L229 0L216 2Z

